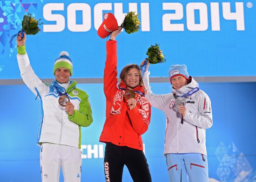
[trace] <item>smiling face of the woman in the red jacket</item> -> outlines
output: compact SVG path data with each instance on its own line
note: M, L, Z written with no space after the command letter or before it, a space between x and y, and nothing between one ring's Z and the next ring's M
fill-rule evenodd
M139 85L139 82L139 71L136 68L131 68L124 79L124 83L129 89L134 89L136 86Z

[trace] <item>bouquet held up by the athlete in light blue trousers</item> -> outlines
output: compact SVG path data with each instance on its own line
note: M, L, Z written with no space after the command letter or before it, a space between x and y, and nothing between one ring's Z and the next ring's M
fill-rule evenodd
M162 54L162 51L159 48L159 44L155 43L155 45L151 45L148 48L147 55L148 58L146 58L146 61L143 63L143 65L141 65L142 75L144 75L144 72L146 71L148 61L150 64L166 62L166 59L164 58L164 55Z

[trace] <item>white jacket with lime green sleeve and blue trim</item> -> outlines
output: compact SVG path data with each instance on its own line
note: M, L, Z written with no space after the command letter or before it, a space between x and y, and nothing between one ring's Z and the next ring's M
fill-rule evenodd
M53 85L45 84L34 73L27 53L18 54L17 59L24 83L41 101L42 115L37 143L55 143L81 148L81 126L87 127L93 122L87 93L76 88L75 81L70 81L67 90L56 80L53 81ZM60 94L56 88L62 93L68 93L70 102L74 104L72 116L69 116L65 107L59 104Z

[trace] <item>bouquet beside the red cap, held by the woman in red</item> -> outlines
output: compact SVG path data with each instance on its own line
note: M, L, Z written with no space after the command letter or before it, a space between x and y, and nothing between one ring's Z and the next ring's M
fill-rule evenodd
M123 23L121 24L121 27L124 28L125 32L127 33L133 33L138 32L141 23L138 19L138 14L135 14L135 12L129 12L125 16Z

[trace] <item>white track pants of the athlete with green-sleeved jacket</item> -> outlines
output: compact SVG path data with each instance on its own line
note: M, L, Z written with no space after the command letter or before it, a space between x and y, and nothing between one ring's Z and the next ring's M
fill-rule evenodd
M59 182L61 168L64 182L80 182L81 164L79 148L53 143L43 143L41 146L42 182Z

